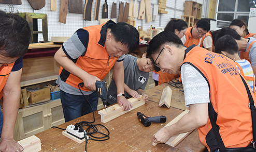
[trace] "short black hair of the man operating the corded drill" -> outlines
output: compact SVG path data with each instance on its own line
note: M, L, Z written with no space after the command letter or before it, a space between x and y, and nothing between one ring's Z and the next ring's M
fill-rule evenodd
M117 42L127 45L130 53L134 52L139 45L139 32L130 24L119 22L113 25L110 32Z

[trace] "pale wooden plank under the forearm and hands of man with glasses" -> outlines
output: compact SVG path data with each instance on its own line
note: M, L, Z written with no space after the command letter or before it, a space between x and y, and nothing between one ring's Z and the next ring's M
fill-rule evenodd
M167 125L165 125L164 127L168 127L168 126L170 126L170 125L173 125L173 124L175 124L175 123L177 123L180 119L181 119L181 117L183 116L183 115L185 115L185 114L187 114L187 113L189 113L189 110L187 109L187 110L185 110L185 111L183 111L181 114L179 114L177 117L175 117L175 119L173 119L171 122L169 122ZM192 130L193 131L193 130ZM172 136L167 142L166 142L166 144L167 145L170 145L170 146L172 146L172 147L175 147L175 146L177 146L184 138L186 138L188 135L189 135L189 133L191 133L192 131L189 131L189 132L186 132L186 133L180 133L180 134L177 134L177 135L175 135L175 136ZM152 145L157 145L157 144L155 144L154 142L152 143Z

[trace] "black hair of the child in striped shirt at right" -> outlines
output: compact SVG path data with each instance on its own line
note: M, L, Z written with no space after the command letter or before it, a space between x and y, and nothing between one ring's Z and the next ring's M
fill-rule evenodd
M219 38L215 45L215 52L221 54L222 51L231 55L238 53L236 40L229 35Z

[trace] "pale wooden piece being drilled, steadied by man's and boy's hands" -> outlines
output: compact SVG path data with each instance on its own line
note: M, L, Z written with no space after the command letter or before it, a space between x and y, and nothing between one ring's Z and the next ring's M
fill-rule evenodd
M141 95L140 98L130 98L128 100L133 105L133 108L131 108L129 112L145 104L145 101ZM123 106L120 107L118 104L115 104L107 107L107 112L105 109L103 109L98 111L98 114L101 115L101 122L106 123L127 112L128 111L123 111Z

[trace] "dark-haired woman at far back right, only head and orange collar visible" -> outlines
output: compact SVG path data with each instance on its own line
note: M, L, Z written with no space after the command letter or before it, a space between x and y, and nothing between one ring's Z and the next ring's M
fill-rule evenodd
M256 38L256 33L250 33L247 24L241 19L235 19L230 23L230 28L234 29L238 35L247 39L249 37Z

